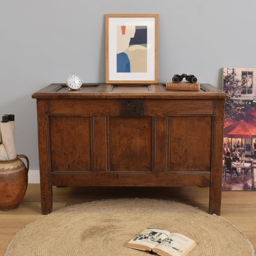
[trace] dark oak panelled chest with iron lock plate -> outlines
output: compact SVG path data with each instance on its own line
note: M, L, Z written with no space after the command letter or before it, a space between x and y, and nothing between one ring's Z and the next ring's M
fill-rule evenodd
M216 87L49 85L37 98L42 213L52 186L210 187L220 214L224 100Z

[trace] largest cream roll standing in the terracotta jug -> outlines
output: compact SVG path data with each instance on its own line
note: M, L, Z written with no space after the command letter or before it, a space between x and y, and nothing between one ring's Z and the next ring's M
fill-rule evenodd
M15 143L12 135L12 123L11 122L0 122L0 129L2 134L2 143L5 147L8 158L16 158Z

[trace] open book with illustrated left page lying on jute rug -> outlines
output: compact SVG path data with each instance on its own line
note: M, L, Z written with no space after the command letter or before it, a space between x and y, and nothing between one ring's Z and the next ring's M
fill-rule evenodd
M160 256L185 256L195 245L195 241L182 234L150 228L126 244L127 247L152 251Z

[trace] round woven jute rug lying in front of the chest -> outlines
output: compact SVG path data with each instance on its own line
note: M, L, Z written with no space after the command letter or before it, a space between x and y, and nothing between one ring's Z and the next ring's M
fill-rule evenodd
M230 222L195 207L154 199L110 199L65 207L18 232L5 256L148 256L125 245L146 228L195 240L189 256L254 256Z

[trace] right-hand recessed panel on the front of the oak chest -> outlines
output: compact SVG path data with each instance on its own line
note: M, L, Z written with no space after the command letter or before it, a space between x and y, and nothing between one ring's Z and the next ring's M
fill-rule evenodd
M168 134L169 171L210 171L211 116L171 117Z

